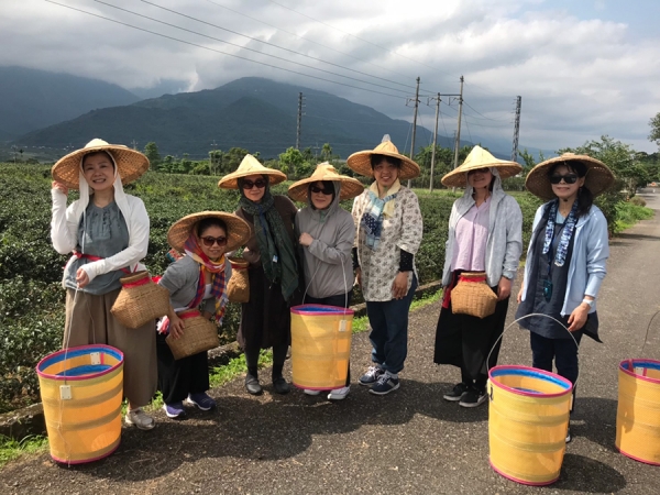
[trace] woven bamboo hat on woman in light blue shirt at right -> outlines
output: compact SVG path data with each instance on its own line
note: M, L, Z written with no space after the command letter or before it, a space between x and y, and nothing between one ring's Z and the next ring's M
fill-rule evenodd
M605 193L614 184L614 174L603 162L596 158L592 158L588 155L576 155L574 153L564 153L561 156L546 160L539 163L536 167L529 170L527 179L525 180L525 187L527 190L541 199L554 198L552 193L552 185L548 177L548 172L556 164L565 163L571 166L571 162L580 162L586 167L586 176L584 178L584 186L596 197Z

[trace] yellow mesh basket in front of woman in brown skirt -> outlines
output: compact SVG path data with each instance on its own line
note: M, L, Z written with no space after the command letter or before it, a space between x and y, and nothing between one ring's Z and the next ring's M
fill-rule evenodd
M67 464L110 455L121 438L123 354L110 345L81 345L36 365L51 457Z

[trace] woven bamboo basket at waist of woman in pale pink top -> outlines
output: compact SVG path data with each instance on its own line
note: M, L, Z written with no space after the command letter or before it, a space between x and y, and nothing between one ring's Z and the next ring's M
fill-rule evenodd
M497 296L483 272L462 273L459 283L451 290L451 309L454 314L485 318L495 312Z

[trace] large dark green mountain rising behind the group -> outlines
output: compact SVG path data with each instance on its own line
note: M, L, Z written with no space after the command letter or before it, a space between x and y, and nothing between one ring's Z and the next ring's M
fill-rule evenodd
M318 151L330 143L342 157L375 146L383 134L409 150L410 123L324 91L245 77L216 89L142 100L89 111L76 119L31 132L21 146L80 147L92 138L139 148L154 141L162 155L208 156L210 150L233 146L274 157L296 143L298 95L304 94L300 147ZM431 132L417 128L417 148ZM447 138L439 144L450 146ZM213 144L215 143L215 144ZM463 143L462 143L463 144ZM406 150L406 151L408 151Z

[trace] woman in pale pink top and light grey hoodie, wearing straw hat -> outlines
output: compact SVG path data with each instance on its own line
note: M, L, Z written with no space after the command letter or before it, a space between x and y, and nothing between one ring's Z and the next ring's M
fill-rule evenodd
M442 177L447 187L464 187L449 217L442 271L443 300L436 330L433 361L461 369L461 382L442 397L462 407L486 399L487 372L497 363L512 283L522 253L522 213L502 188L502 179L518 174L515 162L495 158L474 146L465 162ZM497 295L495 312L485 318L454 314L451 290L462 273L485 272L485 282Z

